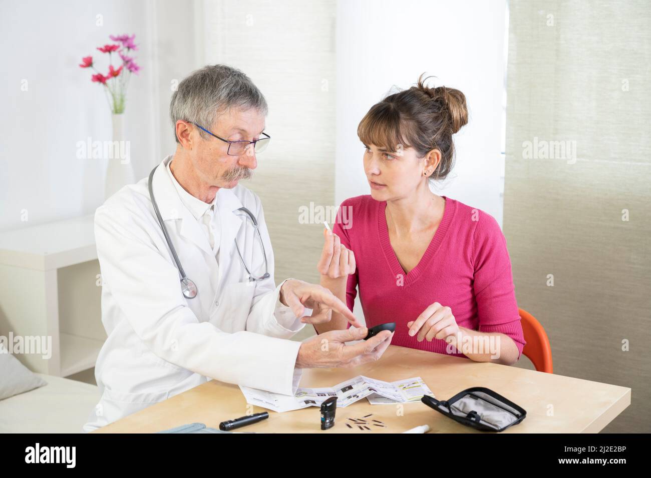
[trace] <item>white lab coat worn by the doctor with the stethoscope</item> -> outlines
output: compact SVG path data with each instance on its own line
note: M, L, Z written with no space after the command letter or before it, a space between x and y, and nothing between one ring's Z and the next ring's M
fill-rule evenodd
M273 251L262 205L240 185L219 189L218 267L208 237L181 202L165 166L154 172L154 196L188 278L199 293L186 299L180 275L156 220L147 179L122 188L95 213L102 273L102 323L108 338L95 377L102 393L84 431L92 431L211 378L291 394L300 343L287 340L304 324L279 307ZM234 239L251 272L264 274L258 220L271 277L249 282ZM212 261L212 262L211 262ZM211 267L211 264L213 267ZM218 272L217 272L218 271ZM215 403L217 405L217 403Z

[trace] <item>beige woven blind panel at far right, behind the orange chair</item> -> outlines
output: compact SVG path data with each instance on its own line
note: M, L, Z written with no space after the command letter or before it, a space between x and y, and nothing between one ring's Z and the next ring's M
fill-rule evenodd
M546 328L555 373L633 388L605 431L648 431L648 2L511 2L507 83L504 232L518 305Z

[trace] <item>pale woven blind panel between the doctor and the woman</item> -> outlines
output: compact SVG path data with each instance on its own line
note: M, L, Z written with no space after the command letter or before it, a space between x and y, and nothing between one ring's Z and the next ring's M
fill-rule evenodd
M298 0L205 0L197 10L204 64L240 68L269 104L271 143L244 185L262 199L277 283L318 283L323 224L299 217L311 203L334 206L335 11L334 0L309 8Z

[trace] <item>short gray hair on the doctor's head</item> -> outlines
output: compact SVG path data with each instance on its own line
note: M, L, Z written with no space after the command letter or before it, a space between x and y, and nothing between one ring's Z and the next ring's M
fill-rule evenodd
M178 84L169 103L169 116L176 137L176 122L189 121L210 129L219 114L231 108L254 108L266 116L267 101L262 92L237 68L226 65L206 65L195 70ZM199 129L199 135L210 135Z

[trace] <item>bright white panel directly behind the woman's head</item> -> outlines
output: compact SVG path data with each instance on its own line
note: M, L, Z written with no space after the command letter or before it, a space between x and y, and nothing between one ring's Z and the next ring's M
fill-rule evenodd
M469 124L454 136L456 166L437 194L484 209L501 224L505 9L505 0L339 1L337 205L370 193L361 118L391 86L408 88L427 72L436 86L464 92L469 107Z

